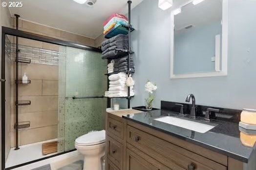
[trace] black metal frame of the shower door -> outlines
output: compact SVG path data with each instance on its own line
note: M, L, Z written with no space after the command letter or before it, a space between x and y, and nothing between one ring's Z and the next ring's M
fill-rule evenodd
M66 47L73 47L77 49L82 49L82 50L87 50L87 51L95 51L95 52L102 52L100 48L95 48L95 47L90 47L90 46L85 46L81 45L78 43L70 42L70 41L64 41L61 39L57 38L52 38L44 35L39 35L39 34L33 34L21 30L16 30L8 27L2 27L2 37L1 37L1 79L5 80L5 35L12 35L12 36L17 36L21 38L27 38L27 39L32 39L36 41L42 41L46 43L51 43L55 45L61 45L61 46L66 46ZM107 99L107 106L109 106L109 98ZM74 150L66 151L63 153L56 153L55 155L43 157L41 159L36 159L30 162L26 162L20 165L16 165L13 167L5 168L5 82L1 82L1 170L11 170L14 168L18 168L24 165L28 165L34 162L38 162L44 159L48 159L50 157L58 156L64 153L69 153Z

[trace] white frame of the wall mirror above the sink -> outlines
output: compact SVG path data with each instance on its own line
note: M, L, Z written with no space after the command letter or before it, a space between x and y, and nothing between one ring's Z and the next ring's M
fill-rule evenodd
M188 3L191 3L192 1L193 0L189 0L187 3L181 5L178 8L181 8ZM221 55L222 57L221 57L220 71L174 74L174 14L173 14L174 10L171 11L171 79L227 76L228 75L228 0L222 1L222 55Z

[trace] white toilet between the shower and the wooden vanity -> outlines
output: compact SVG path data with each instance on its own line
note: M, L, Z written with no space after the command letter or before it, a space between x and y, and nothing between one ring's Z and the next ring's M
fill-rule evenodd
M85 156L83 170L104 170L102 157L105 155L105 139L105 130L89 132L76 139L75 148Z

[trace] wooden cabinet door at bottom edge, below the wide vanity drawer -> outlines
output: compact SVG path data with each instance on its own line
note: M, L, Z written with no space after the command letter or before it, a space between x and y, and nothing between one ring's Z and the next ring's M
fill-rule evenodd
M149 163L129 149L127 149L126 155L126 170L171 170L153 158L147 159L150 162Z

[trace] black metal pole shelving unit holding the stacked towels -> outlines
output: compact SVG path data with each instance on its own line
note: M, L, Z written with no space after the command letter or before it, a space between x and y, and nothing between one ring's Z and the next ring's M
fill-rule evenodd
M131 10L131 3L132 3L132 1L131 0L128 0L127 1L127 3L128 3L128 26L122 26L123 28L125 28L126 30L128 30L128 40L129 40L129 47L128 47L128 51L127 51L127 53L125 54L125 55L123 55L122 57L124 57L124 56L128 56L128 62L127 62L127 64L128 64L128 72L127 72L127 74L131 74L131 72L130 72L130 56L131 56L131 54L133 54L134 52L133 51L131 51L131 43L130 43L130 33L132 32L132 31L134 31L135 29L134 28L132 28L132 26L131 26L131 24L130 24L130 20L131 20L131 18L130 18L130 10ZM127 32L124 32L124 34L126 34ZM119 34L122 34L122 33L119 33ZM111 37L113 37L113 36L115 36L115 35L117 35L117 34L113 34L111 31L110 31L110 33L108 33L107 34L107 36L105 36L105 38L111 38ZM119 57L119 58L122 58L122 57ZM107 59L107 64L109 64L110 63L110 60L111 59L117 59L117 58L108 58ZM110 76L110 75L112 75L112 74L117 74L117 73L119 73L119 72L113 72L113 73L107 73L107 74L105 74L105 75L107 75L107 89L109 88L109 80L108 80L108 76ZM128 105L128 108L130 108L130 100L131 100L131 98L132 98L133 96L130 96L130 87L128 87L128 96L127 97L108 97L108 100L107 100L107 107L110 107L110 99L113 99L113 98L120 98L120 99L127 99L127 105Z

